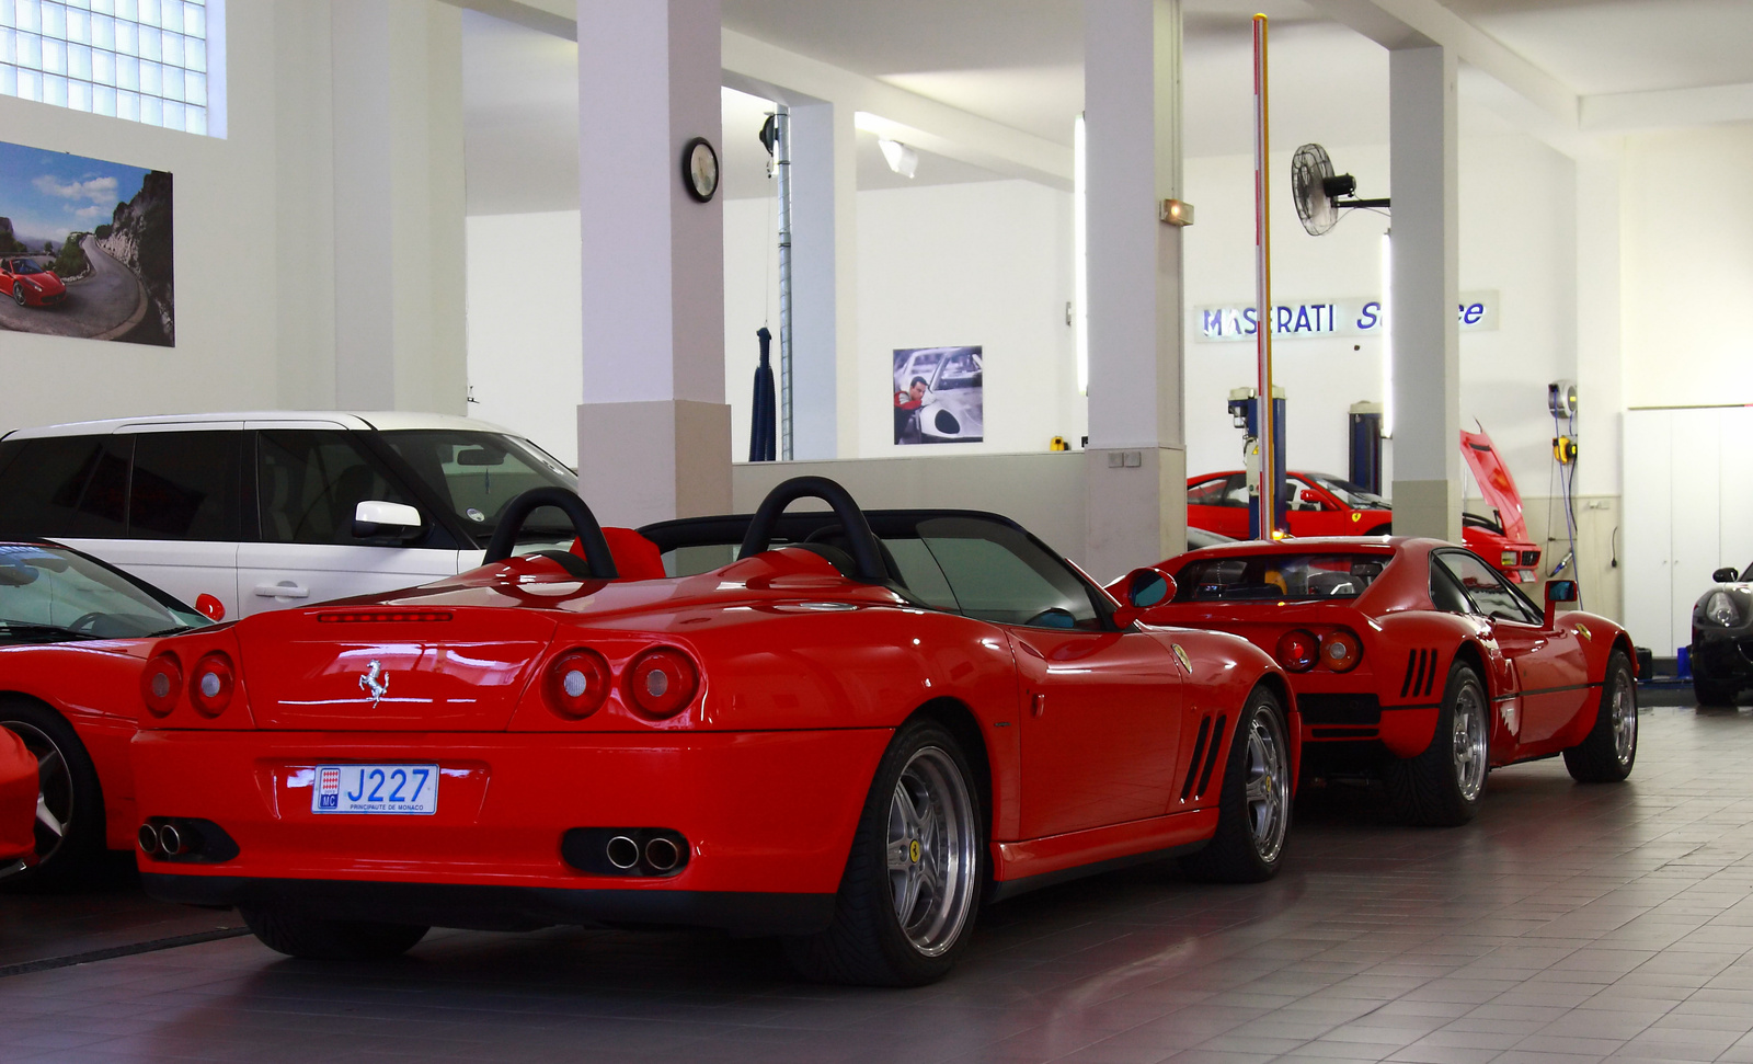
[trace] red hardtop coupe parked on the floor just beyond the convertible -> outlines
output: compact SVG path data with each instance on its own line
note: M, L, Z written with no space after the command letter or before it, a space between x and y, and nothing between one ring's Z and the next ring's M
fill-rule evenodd
M1246 636L1290 673L1304 775L1380 771L1416 824L1462 824L1492 766L1564 754L1581 782L1637 757L1630 638L1606 617L1537 608L1485 559L1439 540L1225 543L1162 563L1171 624Z

